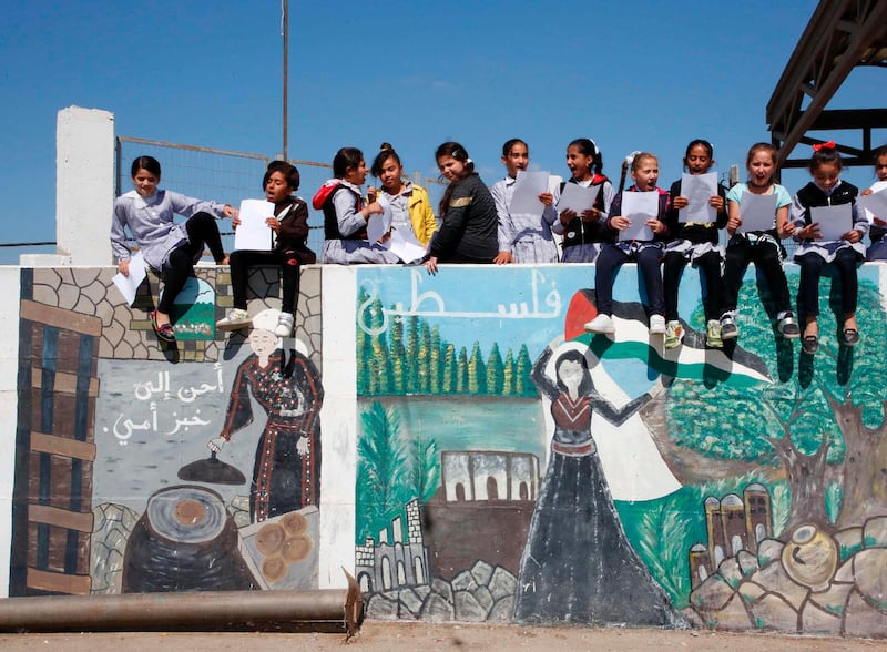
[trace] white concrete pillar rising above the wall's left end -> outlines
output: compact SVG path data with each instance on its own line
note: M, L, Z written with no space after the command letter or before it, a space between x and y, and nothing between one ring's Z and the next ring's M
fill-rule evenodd
M55 125L57 264L112 264L114 114L69 106Z

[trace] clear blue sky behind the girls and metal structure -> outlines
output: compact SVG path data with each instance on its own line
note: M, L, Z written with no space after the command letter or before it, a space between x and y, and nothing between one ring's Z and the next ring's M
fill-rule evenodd
M289 156L328 162L353 145L371 159L388 141L408 171L434 176L434 151L452 139L491 184L510 137L564 174L567 143L590 136L611 177L649 150L667 186L686 143L706 137L725 172L768 140L767 100L815 7L290 0ZM0 243L54 240L55 118L69 105L113 112L119 135L281 152L282 48L278 1L7 3ZM829 108L885 105L884 71L857 70ZM784 183L794 192L805 176ZM845 177L867 186L873 173ZM0 248L0 262L19 253Z

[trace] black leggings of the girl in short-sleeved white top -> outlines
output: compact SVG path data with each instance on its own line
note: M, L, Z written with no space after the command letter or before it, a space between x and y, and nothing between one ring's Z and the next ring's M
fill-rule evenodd
M792 310L792 299L788 297L788 282L785 279L779 249L771 242L752 244L745 238L727 246L727 259L724 265L724 307L722 314L734 312L742 287L742 279L748 263L764 275L767 287L776 306L776 314Z

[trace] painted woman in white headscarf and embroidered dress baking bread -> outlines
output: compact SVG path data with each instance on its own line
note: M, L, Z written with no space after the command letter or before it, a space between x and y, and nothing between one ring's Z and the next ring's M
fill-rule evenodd
M320 501L320 374L306 355L287 353L274 335L277 310L253 318L249 355L237 368L225 422L208 448L218 451L237 430L253 422L253 399L268 420L256 448L249 515L253 522Z

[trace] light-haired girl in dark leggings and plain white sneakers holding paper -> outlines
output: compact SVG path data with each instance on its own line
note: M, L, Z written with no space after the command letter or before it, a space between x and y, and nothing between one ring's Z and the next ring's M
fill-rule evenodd
M646 292L648 305L644 306L650 318L650 334L662 335L665 333L665 297L662 291L662 275L659 265L662 262L663 241L667 235L665 214L669 211L669 193L656 186L659 181L659 160L648 152L634 152L629 156L631 177L634 181L624 193L619 193L613 198L610 207L610 217L604 222L604 228L612 235L622 234L616 243L604 243L594 266L594 292L598 297L598 316L585 324L585 330L592 333L614 333L613 324L613 279L616 269L629 262L638 263L638 272L643 279ZM652 208L644 207L646 220L643 230L635 216L630 220L629 206L638 204L641 197L629 196L633 193L650 193ZM645 197L644 197L645 198ZM631 200L631 202L629 201ZM640 211L639 211L640 212ZM624 234L630 233L630 237Z

